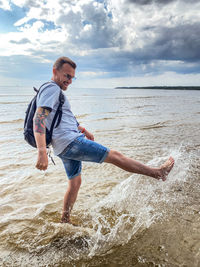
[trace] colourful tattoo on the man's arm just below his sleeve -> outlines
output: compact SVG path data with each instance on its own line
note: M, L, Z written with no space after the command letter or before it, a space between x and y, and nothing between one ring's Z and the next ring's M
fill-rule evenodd
M45 108L38 108L34 119L33 119L33 126L34 132L45 134L45 119L49 115L49 111Z

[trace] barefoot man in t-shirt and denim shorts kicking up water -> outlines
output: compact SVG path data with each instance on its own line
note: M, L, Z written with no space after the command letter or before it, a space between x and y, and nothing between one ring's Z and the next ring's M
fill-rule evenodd
M45 127L50 128L52 119L59 105L60 89L66 91L75 77L76 64L67 57L61 57L53 65L51 82L41 87L37 97L37 110L34 116L34 135L38 149L36 168L46 170L48 157L46 152ZM159 168L151 168L123 154L110 150L96 142L94 136L79 125L71 112L66 96L62 106L62 119L54 128L52 146L54 153L63 161L69 178L67 192L64 196L62 223L70 223L70 212L76 201L81 185L81 162L111 163L128 172L138 173L166 180L174 165L170 157Z

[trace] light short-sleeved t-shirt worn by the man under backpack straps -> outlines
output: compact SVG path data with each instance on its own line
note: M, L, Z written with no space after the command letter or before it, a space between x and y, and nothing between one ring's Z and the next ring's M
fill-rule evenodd
M47 107L51 110L45 120L48 130L50 130L52 120L59 105L60 92L60 87L54 81L50 81L40 88L37 96L37 108ZM59 155L72 141L74 141L74 139L82 135L78 130L77 120L71 111L71 106L65 95L64 99L65 102L62 106L62 118L59 126L57 128L54 127L52 135L51 144L55 155Z

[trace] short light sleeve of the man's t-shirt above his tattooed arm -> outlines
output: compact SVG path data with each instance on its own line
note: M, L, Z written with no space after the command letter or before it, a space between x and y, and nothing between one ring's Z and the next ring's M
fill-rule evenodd
M47 108L52 111L59 101L60 89L55 85L47 85L39 92L37 107Z

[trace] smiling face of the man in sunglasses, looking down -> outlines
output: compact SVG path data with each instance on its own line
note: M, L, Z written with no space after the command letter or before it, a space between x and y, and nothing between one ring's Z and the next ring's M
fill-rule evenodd
M72 83L74 76L75 69L67 63L63 64L60 70L53 69L53 80L64 91L67 90L68 85Z

